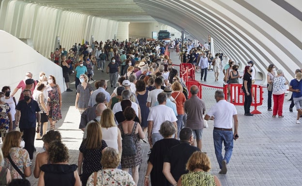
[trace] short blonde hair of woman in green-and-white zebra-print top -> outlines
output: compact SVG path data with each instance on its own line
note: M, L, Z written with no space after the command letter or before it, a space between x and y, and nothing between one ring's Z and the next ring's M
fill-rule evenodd
M186 164L186 169L191 172L194 171L196 168L202 169L205 172L210 171L211 161L205 153L196 151L189 158Z

